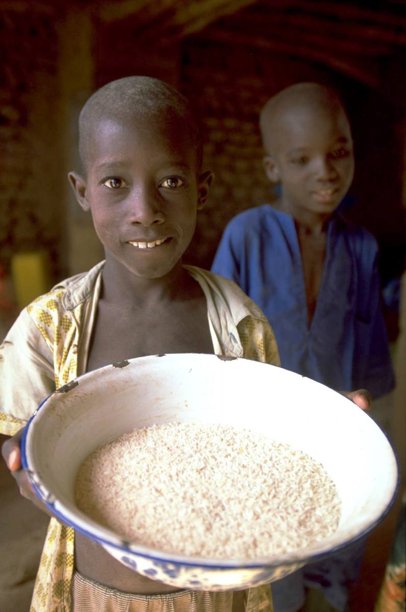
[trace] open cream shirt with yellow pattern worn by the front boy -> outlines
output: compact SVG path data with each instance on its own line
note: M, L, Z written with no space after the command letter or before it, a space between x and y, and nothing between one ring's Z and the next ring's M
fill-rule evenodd
M102 267L59 283L13 324L0 346L0 433L17 433L44 398L85 373ZM260 308L230 280L185 267L205 293L214 353L279 365ZM51 518L30 612L70 612L73 543L73 529Z

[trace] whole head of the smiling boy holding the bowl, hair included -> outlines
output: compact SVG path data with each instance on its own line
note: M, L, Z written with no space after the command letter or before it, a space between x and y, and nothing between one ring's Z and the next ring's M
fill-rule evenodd
M187 100L148 76L112 81L80 114L80 174L69 179L92 213L107 261L133 274L170 272L208 195L201 141Z

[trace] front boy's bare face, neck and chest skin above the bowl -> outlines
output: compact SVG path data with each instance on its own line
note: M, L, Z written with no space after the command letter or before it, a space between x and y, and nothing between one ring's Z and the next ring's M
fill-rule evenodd
M212 353L205 295L181 262L211 181L210 172L200 171L196 129L187 129L192 118L161 119L158 99L154 111L118 108L113 118L100 105L89 102L81 113L85 177L69 174L105 248L88 369L123 353ZM111 342L117 334L120 345Z

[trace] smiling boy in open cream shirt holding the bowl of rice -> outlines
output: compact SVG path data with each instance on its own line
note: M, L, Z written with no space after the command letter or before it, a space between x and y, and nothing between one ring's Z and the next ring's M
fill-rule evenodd
M81 172L105 261L59 283L21 312L0 348L2 454L21 493L21 428L56 387L123 359L212 353L279 365L273 331L241 289L182 255L211 173L187 100L133 76L108 83L80 115ZM136 409L136 407L135 407ZM43 509L43 507L42 507ZM141 577L51 518L31 612L230 612L233 594L179 591Z

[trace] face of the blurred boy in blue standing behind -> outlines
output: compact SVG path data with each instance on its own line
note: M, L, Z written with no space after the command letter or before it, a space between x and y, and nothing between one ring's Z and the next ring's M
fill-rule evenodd
M291 109L274 121L273 155L265 158L271 181L282 185L282 205L293 216L329 215L351 185L353 143L337 107Z

